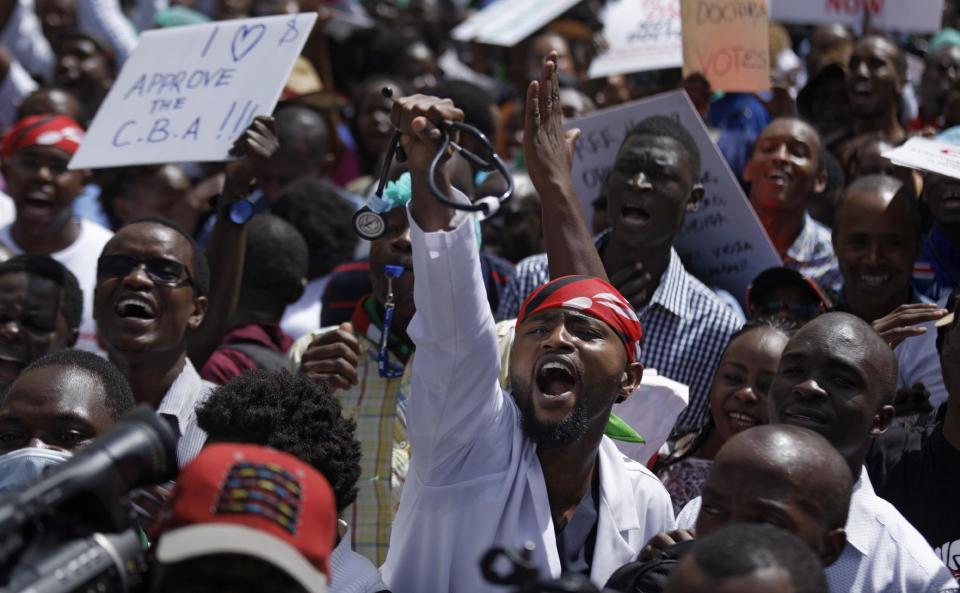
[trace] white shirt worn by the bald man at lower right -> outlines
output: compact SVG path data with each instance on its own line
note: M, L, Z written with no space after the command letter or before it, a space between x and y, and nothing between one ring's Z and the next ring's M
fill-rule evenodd
M700 514L697 497L677 515L692 529ZM847 545L824 570L831 593L947 593L958 585L930 544L897 509L873 491L866 468L853 485Z

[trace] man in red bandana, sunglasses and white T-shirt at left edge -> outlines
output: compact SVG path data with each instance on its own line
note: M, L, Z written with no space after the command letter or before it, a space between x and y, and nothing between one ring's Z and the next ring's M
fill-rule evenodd
M25 117L6 133L0 156L17 217L0 229L0 242L14 254L49 255L73 272L84 296L77 347L102 354L92 295L96 255L113 233L72 213L89 180L89 171L67 169L82 139L80 125L62 115Z

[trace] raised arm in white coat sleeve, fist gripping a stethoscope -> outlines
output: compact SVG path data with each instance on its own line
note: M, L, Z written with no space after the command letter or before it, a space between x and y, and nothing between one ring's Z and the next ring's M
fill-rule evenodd
M480 272L473 218L440 204L427 187L442 120L461 120L449 100L414 95L392 112L404 134L413 196L409 205L416 345L407 409L411 473L425 484L460 483L503 471L516 427L498 381L497 336ZM431 123L434 122L434 123ZM437 185L451 192L440 167ZM448 195L466 201L453 191Z

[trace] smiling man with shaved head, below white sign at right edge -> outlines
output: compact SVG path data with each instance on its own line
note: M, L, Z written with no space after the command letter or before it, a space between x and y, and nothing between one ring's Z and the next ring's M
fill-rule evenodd
M837 206L833 225L833 249L843 276L836 309L873 324L896 348L902 401L911 401L908 391L925 388L936 406L946 401L947 392L933 323L946 311L913 289L921 237L916 199L899 180L867 175L854 181Z

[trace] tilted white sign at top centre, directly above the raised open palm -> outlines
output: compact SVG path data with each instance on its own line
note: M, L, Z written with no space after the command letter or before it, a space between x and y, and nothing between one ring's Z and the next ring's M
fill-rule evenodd
M513 47L557 18L579 0L498 0L457 25L457 41Z

